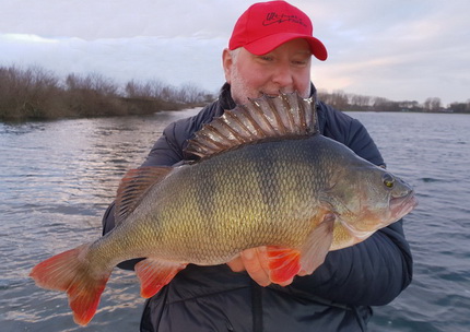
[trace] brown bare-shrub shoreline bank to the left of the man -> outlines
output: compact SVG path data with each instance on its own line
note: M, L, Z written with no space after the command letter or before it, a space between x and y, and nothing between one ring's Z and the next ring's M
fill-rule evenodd
M207 105L213 96L186 84L130 81L124 87L99 74L60 81L42 68L0 67L0 121L149 115Z

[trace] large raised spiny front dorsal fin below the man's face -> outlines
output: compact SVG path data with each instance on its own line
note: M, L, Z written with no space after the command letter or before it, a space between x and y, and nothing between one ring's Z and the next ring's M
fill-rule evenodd
M188 141L187 153L201 158L232 147L271 138L312 135L318 132L315 100L297 93L249 99L226 110Z

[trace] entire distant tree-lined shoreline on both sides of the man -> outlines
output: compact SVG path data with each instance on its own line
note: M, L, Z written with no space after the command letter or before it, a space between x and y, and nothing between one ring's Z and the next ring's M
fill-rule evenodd
M71 73L60 80L38 67L0 67L0 121L150 115L201 107L215 98L191 84L175 87L156 80L132 80L119 86L96 73L85 76ZM470 99L442 107L439 98L427 98L421 105L341 91L318 91L317 98L344 111L470 114Z

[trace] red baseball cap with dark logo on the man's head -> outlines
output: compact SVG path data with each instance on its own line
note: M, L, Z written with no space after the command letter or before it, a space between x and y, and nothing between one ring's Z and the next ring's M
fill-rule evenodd
M313 33L310 19L296 7L285 1L259 2L250 5L235 23L228 49L245 47L261 56L286 42L303 38L310 45L312 54L325 61L327 49Z

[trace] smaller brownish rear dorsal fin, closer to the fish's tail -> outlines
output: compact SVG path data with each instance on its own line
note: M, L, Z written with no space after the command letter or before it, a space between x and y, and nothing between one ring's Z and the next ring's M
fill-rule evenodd
M143 194L153 185L160 182L172 167L142 167L130 169L122 178L117 190L115 223L122 223L136 210Z

